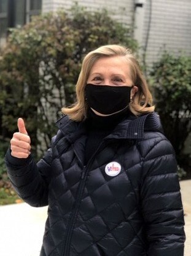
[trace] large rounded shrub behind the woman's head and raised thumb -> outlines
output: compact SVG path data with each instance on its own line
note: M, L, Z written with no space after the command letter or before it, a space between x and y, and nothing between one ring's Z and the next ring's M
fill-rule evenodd
M82 58L114 43L137 47L130 28L112 20L106 10L88 12L78 6L11 30L0 61L2 126L12 133L17 118L23 117L34 146L38 132L48 147L61 107L74 102Z

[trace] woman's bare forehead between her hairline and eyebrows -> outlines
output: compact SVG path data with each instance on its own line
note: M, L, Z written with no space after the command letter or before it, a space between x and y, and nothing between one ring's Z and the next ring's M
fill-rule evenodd
M128 64L128 60L123 56L101 57L93 64L90 75L105 72L130 75L130 64Z

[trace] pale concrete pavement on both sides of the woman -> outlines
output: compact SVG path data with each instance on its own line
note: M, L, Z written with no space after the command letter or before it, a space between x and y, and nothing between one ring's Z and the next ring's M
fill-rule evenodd
M187 236L184 256L191 256L191 180L181 181L181 193ZM46 218L47 207L33 208L25 203L1 206L0 255L39 256Z

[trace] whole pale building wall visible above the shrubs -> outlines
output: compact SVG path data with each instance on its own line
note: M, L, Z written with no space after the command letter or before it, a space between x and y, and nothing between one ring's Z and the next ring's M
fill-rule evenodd
M69 9L74 4L72 0L42 1L42 12L57 10L61 7ZM143 24L138 26L143 31L141 33L139 30L141 39L140 36L138 39L141 56L144 49L147 50L146 64L149 66L160 57L164 49L175 53L185 51L185 54L191 54L190 0L77 0L77 2L89 10L106 8L111 12L111 17L132 27L134 4L143 3L144 20Z

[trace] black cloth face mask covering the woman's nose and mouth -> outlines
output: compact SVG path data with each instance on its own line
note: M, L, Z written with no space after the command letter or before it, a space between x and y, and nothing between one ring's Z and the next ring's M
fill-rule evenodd
M92 109L109 115L128 107L133 86L109 86L87 84L85 99Z

